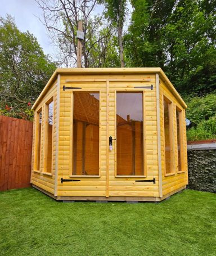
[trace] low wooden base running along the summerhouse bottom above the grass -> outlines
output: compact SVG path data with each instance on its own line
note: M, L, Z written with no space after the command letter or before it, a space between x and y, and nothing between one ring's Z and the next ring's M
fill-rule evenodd
M177 192L182 191L186 188L186 186L180 187L177 190L174 190L174 191L168 193L167 195L164 195L163 197L154 197L154 196L148 196L148 197L111 196L111 197L105 197L105 196L55 196L55 195L51 194L50 192L43 190L43 188L40 188L33 184L32 184L32 186L57 201L139 201L139 202L149 201L149 202L159 202L159 201L163 201L167 197L170 197L173 194L176 194Z

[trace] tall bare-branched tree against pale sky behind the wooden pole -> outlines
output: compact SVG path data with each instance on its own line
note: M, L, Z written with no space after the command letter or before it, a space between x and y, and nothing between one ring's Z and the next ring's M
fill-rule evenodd
M75 66L77 62L78 21L83 20L82 65L85 68L105 64L107 48L111 46L113 27L104 15L94 15L97 0L37 0L43 10L43 20L51 38L60 50L60 63Z

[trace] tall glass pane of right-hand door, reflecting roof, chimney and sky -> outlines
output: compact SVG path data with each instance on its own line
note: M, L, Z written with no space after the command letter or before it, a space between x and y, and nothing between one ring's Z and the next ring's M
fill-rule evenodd
M116 93L117 175L144 175L143 93Z

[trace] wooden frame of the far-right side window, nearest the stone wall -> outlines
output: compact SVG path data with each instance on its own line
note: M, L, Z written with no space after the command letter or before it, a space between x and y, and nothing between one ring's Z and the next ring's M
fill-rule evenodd
M181 170L178 169L177 173L185 173L185 146L184 146L184 134L183 134L183 109L176 105L176 141L177 141L177 161L178 161L178 136L177 136L177 111L180 114L178 119L179 127L179 146L180 146L180 161L181 161Z

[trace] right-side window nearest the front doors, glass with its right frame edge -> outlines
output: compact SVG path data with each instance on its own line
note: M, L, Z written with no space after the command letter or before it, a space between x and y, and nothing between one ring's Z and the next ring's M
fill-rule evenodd
M164 97L164 146L165 146L165 174L174 172L173 154L173 104Z

